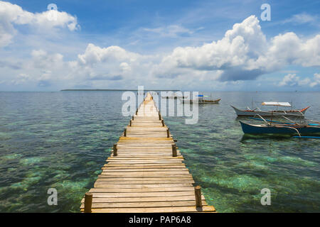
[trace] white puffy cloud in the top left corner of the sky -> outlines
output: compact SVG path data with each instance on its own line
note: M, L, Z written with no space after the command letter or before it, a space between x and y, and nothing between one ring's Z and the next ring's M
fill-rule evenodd
M16 4L0 1L0 48L12 42L18 33L16 25L33 26L38 31L50 31L52 28L68 28L70 31L75 31L80 28L77 18L68 13L61 11L31 13Z

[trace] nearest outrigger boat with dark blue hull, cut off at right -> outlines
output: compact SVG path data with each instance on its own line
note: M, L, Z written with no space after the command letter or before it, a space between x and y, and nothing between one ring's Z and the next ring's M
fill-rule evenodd
M262 118L262 116L260 116ZM286 118L286 117L284 117ZM320 137L308 137L302 136L302 134L314 134L320 133L320 122L318 121L304 121L304 123L297 123L295 121L286 118L290 122L279 122L265 120L265 124L250 124L240 121L242 131L245 134L298 134L299 138L320 138ZM257 120L257 119L255 119Z

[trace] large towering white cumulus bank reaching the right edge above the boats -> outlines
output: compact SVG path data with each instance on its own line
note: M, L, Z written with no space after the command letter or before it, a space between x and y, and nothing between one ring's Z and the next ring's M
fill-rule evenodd
M236 23L225 36L201 47L176 48L154 72L176 76L179 69L223 70L220 81L256 79L286 65L320 65L320 35L302 40L294 33L280 34L269 42L256 16Z

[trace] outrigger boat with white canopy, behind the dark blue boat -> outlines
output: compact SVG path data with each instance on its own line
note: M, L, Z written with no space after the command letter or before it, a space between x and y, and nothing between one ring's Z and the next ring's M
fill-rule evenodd
M262 106L287 106L291 107L289 102L275 102L275 101L265 101L262 102ZM235 106L231 106L235 110L235 114L238 116L304 116L306 110L309 109L310 106L304 109L291 109L291 110L273 110L273 111L262 111L259 107L255 109L250 109L247 107L246 110L240 110Z

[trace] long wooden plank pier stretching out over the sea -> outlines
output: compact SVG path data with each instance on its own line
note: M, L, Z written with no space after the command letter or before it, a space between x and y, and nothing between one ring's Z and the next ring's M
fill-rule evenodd
M176 150L169 128L148 93L114 145L94 188L82 199L80 210L215 212L193 183L183 156Z

